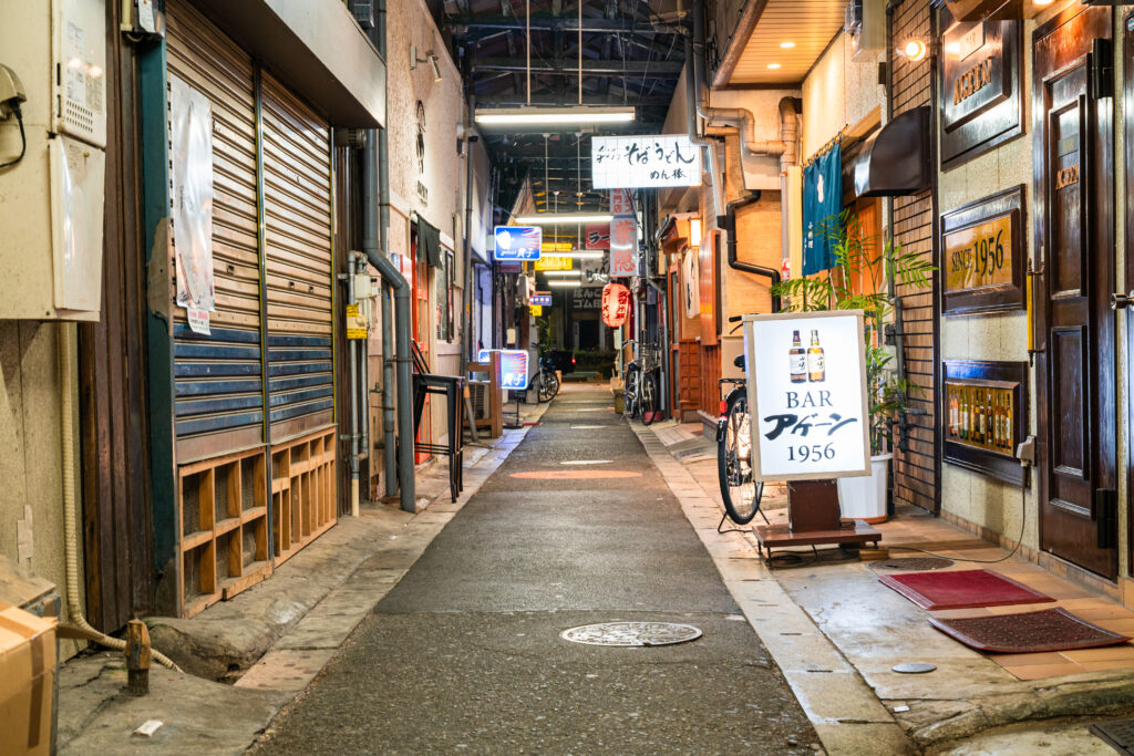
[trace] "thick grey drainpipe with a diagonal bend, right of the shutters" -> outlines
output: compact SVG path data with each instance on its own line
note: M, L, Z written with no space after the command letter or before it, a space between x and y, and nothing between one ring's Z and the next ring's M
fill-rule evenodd
M386 155L383 155L386 158ZM382 161L386 164L386 161ZM363 228L374 229L378 227L378 204L379 204L379 171L378 171L378 130L366 131L366 146L363 150L362 159L362 207ZM401 275L390 258L376 248L376 245L365 239L373 239L373 236L363 233L363 252L370 264L378 269L379 274L393 288L393 304L397 316L397 333L395 338L396 372L398 379L398 486L401 490L401 509L407 512L416 511L416 500L414 496L414 413L413 413L413 388L409 375L409 326L412 315L409 309L409 283ZM370 247L370 248L365 248ZM383 322L383 331L384 323ZM390 449L386 449L386 456L390 457Z

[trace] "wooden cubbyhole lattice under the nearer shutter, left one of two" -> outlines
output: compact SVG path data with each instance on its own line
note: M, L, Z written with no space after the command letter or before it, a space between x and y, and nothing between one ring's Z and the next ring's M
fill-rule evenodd
M178 468L181 617L271 574L263 448Z

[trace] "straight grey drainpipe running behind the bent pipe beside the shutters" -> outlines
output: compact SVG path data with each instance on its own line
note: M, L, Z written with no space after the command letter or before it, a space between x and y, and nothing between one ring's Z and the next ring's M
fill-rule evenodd
M378 0L376 34L378 53L386 60L386 0ZM379 249L388 252L390 237L390 165L389 165L389 131L384 128L378 131L378 194L379 194ZM382 300L382 477L386 478L386 498L392 499L398 492L397 460L393 440L393 307L392 291L386 277L379 292ZM367 387L367 396L370 389Z

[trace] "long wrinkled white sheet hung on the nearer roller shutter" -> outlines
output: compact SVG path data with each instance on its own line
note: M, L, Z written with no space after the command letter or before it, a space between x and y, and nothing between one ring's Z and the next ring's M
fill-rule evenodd
M172 75L169 130L177 304L213 311L212 105L209 97Z

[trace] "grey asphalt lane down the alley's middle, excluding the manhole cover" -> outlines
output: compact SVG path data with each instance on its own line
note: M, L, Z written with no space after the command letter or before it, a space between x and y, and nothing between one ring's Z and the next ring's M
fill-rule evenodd
M610 392L565 387L263 753L810 754L814 730ZM695 642L572 644L616 620Z

